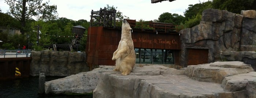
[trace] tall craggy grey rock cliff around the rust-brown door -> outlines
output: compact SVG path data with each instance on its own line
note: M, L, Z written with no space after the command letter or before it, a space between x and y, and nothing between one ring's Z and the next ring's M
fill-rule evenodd
M208 63L221 61L220 52L256 50L256 11L241 15L226 10L207 9L199 25L179 32L182 50L180 64L188 64L188 48L208 49Z

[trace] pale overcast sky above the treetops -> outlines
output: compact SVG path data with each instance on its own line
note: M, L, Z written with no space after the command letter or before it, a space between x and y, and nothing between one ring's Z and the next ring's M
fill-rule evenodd
M48 1L48 0L45 0ZM45 2L43 1L43 2ZM145 21L158 19L164 12L184 16L184 12L190 4L205 2L206 0L175 0L151 3L151 0L50 0L49 5L57 5L59 18L72 20L90 20L91 11L99 11L100 8L117 7L116 10L128 16L129 19L142 19ZM0 9L3 13L9 10L9 6L0 0Z

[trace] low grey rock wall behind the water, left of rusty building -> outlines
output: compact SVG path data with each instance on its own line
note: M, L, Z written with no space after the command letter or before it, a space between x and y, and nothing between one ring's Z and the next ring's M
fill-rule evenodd
M90 71L86 64L85 52L32 51L30 75L69 76L79 72Z

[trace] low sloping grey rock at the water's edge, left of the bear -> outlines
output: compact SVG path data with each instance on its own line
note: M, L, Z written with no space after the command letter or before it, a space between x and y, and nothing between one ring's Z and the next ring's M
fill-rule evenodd
M45 82L45 94L91 94L99 81L100 73L113 69L114 66L100 66L92 71Z

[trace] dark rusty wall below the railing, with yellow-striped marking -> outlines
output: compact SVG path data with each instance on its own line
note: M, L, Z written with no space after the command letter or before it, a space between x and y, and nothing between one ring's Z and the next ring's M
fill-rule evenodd
M0 80L29 77L31 57L0 58ZM18 68L20 76L15 76Z

